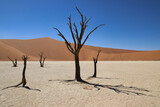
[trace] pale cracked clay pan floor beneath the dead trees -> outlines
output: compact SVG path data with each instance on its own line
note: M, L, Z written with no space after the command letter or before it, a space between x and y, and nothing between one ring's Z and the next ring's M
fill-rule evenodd
M0 62L0 107L159 107L159 61L99 61L98 78L93 75L93 62L81 61L81 76L89 83L112 85L94 87L75 81L73 61L27 62L26 88L3 88L21 82L23 62L11 67Z

